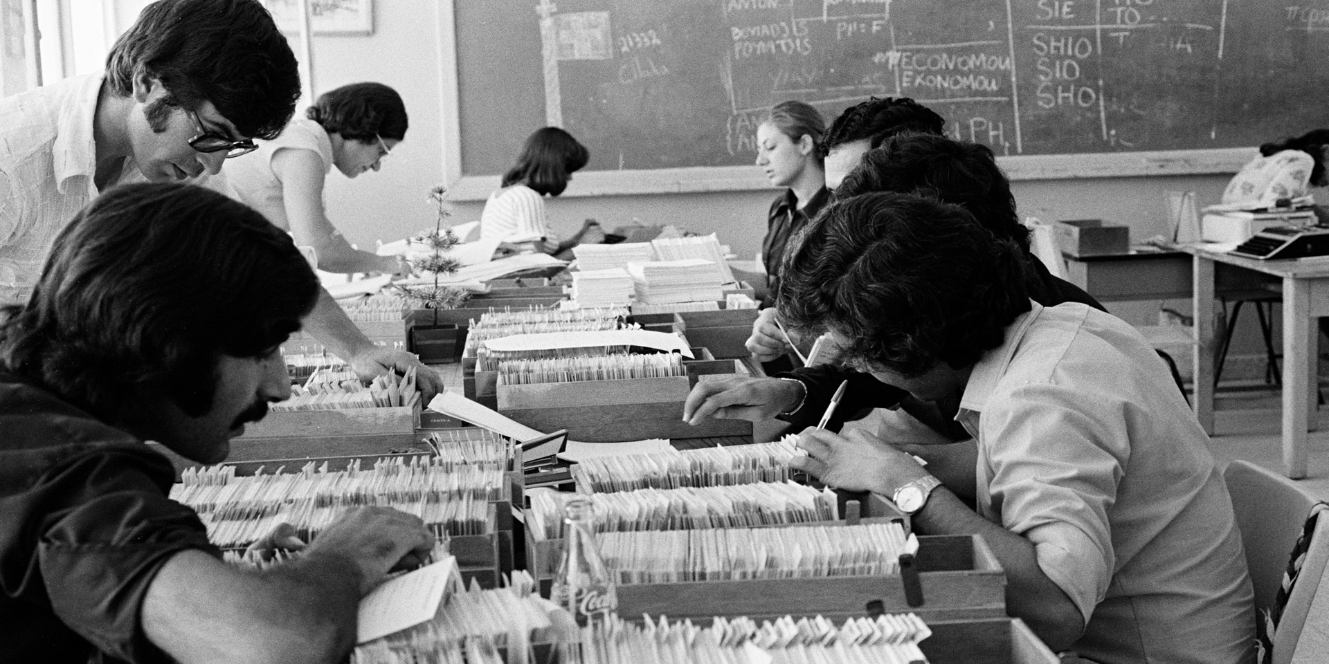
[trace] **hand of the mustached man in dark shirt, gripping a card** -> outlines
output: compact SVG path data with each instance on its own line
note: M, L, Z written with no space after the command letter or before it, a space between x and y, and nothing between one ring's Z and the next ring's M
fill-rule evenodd
M432 548L433 534L420 517L391 507L356 507L319 533L308 555L340 555L354 562L364 595L389 571L419 566Z

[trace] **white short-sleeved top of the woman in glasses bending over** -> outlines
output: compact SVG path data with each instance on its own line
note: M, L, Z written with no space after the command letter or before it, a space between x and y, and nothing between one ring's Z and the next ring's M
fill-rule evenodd
M231 198L258 210L283 231L291 230L286 218L286 203L282 199L282 181L272 170L272 157L276 153L308 150L323 161L323 174L332 171L332 139L323 125L312 120L296 118L286 125L282 135L271 141L255 141L258 150L226 162L226 179Z

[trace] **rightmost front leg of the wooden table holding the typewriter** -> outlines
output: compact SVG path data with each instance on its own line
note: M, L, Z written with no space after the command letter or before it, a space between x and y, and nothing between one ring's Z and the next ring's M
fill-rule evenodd
M1306 477L1306 432L1314 401L1309 398L1310 282L1282 280L1282 465L1288 477ZM1312 408L1306 408L1308 404Z

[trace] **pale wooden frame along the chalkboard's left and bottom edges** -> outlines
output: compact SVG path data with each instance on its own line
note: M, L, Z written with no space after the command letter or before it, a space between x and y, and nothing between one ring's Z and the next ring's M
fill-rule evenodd
M453 201L485 201L501 175L465 175L461 163L461 92L457 69L456 0L439 3L439 70L444 181ZM1233 174L1252 147L998 157L1011 181ZM579 171L563 197L688 194L769 190L756 166Z

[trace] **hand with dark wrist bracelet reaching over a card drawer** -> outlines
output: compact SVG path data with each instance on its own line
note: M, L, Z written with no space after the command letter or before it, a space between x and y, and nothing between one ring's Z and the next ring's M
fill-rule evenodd
M763 422L787 413L803 401L803 384L780 378L698 381L683 404L683 421L698 424L707 417Z

